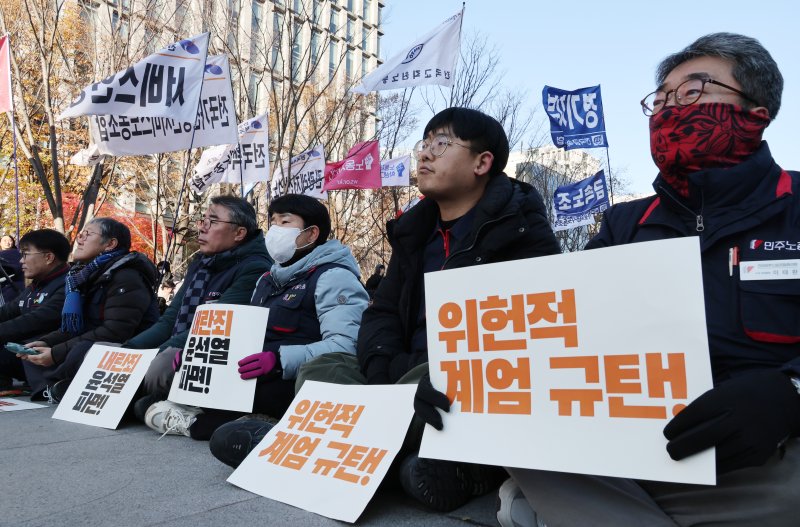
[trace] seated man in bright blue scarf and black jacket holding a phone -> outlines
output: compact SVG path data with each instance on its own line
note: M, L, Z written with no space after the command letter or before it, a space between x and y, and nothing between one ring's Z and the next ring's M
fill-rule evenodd
M61 328L28 344L19 355L28 381L45 382L59 402L95 342L123 342L158 318L155 265L131 251L131 232L111 218L95 218L78 234L67 273Z

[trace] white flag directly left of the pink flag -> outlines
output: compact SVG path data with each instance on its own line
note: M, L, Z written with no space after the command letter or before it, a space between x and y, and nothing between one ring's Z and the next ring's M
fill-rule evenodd
M304 194L328 199L325 185L325 149L317 145L275 167L269 184L272 199L284 194Z

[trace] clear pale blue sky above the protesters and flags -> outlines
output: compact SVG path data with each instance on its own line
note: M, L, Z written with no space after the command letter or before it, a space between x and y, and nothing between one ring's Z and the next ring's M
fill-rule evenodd
M388 0L381 58L401 52L461 9L461 0ZM541 105L545 84L574 90L600 84L608 158L628 192L652 193L658 170L650 157L647 118L639 101L655 89L655 68L667 55L718 31L757 38L784 77L783 103L764 139L777 163L800 170L800 12L790 0L693 2L473 0L466 2L462 39L471 32L497 47L505 86ZM456 75L458 73L456 72ZM388 92L386 92L388 93ZM417 100L422 106L421 100ZM537 115L545 118L539 108ZM418 114L422 126L432 114ZM800 127L798 127L800 128ZM409 139L409 148L419 139ZM605 161L604 149L589 153Z

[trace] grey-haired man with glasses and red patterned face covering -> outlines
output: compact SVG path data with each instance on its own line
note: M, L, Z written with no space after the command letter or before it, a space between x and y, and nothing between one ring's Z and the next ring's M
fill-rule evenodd
M783 77L757 40L716 33L664 59L656 81L641 102L656 194L609 209L587 249L700 238L714 388L664 435L678 462L715 448L717 485L509 469L503 526L798 524L800 173L761 138ZM785 279L740 277L770 261Z

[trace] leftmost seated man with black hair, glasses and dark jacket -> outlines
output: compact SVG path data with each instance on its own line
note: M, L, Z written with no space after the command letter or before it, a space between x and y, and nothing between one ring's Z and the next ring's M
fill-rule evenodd
M58 231L40 229L24 235L19 246L22 272L31 282L17 298L0 307L0 346L37 340L61 325L69 240ZM13 379L27 381L22 359L0 350L0 390L10 389ZM28 383L34 400L44 390L43 380L38 381Z

